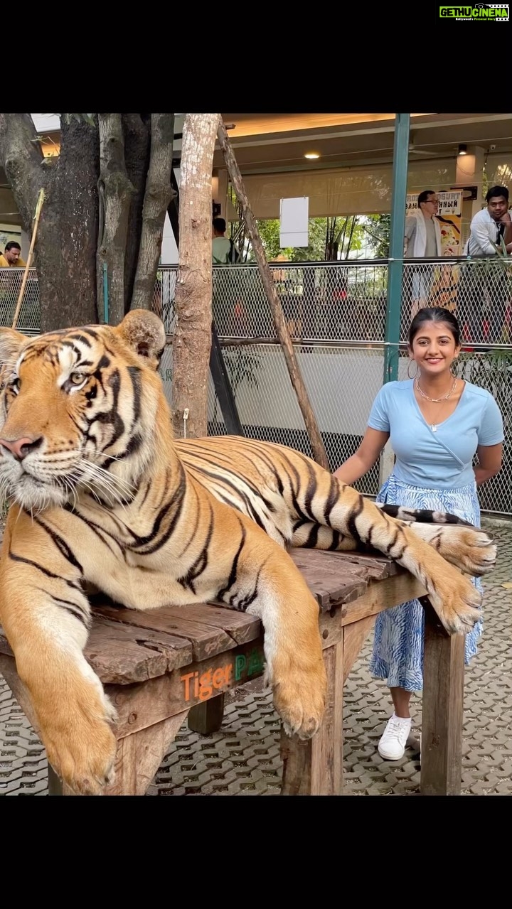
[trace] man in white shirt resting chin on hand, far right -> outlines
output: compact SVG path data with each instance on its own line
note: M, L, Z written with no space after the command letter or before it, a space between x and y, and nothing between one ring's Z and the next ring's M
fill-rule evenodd
M491 258L492 265L463 265L460 300L467 307L470 340L499 344L510 301L511 271L500 261L497 247L501 238L507 253L512 253L512 219L508 211L507 186L491 186L486 195L487 208L471 221L466 252L472 258ZM485 311L485 318L484 318ZM484 321L486 326L484 326ZM485 330L485 327L487 330Z

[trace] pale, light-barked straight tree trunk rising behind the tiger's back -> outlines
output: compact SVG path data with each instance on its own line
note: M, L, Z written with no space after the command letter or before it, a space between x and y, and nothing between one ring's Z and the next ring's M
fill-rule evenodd
M207 433L212 341L212 169L219 122L219 114L187 114L183 126L173 344L176 437L197 438ZM184 421L186 410L188 419Z

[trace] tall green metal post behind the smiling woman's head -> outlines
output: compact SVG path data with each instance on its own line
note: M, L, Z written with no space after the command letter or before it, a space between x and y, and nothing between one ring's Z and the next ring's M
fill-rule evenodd
M398 342L400 340L400 304L402 300L402 271L404 230L407 204L407 159L410 114L395 115L395 144L393 150L393 184L391 190L391 226L389 237L389 271L387 277L386 347L384 350L384 382L398 377Z

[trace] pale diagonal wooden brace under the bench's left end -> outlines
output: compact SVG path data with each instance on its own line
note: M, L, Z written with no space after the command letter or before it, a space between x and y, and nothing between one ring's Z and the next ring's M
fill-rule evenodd
M105 787L104 795L146 794L186 714L187 710L121 739L115 753L114 783Z

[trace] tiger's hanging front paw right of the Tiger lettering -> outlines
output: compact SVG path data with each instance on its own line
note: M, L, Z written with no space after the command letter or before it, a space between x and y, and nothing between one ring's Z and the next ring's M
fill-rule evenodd
M286 734L311 738L326 712L327 679L322 657L313 667L293 666L289 674L274 674L272 688L274 705Z

